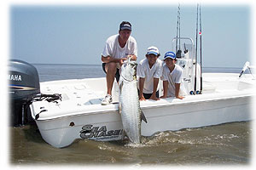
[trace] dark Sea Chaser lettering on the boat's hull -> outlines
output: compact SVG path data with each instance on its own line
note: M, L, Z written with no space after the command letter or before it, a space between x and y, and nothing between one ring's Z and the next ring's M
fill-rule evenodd
M93 125L84 125L80 131L80 137L82 139L110 139L119 136L122 132L123 129L108 131L106 126L93 127Z

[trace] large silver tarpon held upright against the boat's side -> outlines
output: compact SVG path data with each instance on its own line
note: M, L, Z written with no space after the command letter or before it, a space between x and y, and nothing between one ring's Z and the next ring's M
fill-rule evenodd
M137 93L137 63L125 60L121 66L119 79L119 113L126 136L134 144L141 143L141 122L147 122L140 108Z

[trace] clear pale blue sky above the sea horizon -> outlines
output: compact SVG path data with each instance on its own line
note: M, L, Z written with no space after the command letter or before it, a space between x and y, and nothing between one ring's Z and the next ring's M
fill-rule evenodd
M203 66L242 67L251 61L249 4L201 4ZM42 64L100 65L108 37L131 22L138 60L149 46L160 59L176 37L177 4L10 6L10 58ZM195 40L196 3L181 4L181 37Z

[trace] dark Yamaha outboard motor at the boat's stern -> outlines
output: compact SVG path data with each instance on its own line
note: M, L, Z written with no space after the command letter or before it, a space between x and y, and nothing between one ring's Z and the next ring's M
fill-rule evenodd
M25 61L11 59L8 79L11 126L24 125L32 121L28 106L32 98L40 94L38 71Z

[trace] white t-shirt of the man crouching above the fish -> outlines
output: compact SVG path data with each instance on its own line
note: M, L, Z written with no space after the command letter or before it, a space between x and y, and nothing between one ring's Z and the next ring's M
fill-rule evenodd
M125 58L126 55L135 54L137 56L137 42L134 37L129 37L125 47L121 48L118 40L119 34L108 37L102 52L103 57L111 56L115 59Z

